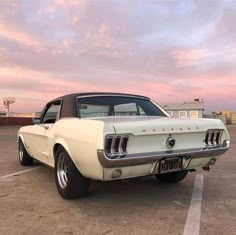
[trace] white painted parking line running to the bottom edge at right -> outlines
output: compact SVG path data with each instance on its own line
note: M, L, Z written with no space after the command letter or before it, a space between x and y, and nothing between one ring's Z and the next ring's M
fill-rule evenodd
M192 193L190 208L186 219L183 235L199 235L202 192L203 192L203 174L197 174Z

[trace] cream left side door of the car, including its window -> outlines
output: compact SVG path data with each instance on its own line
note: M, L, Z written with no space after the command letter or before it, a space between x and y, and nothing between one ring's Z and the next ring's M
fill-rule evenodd
M61 100L47 104L40 118L40 123L31 129L31 138L27 145L30 154L41 162L49 162L49 138L52 138L54 123L59 119Z

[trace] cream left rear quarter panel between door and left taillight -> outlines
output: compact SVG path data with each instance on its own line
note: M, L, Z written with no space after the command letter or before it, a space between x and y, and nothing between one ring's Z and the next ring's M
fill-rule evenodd
M103 144L102 130L102 122L78 118L64 118L54 126L54 144L59 143L68 151L85 177L100 180L103 179L103 169L98 161L97 149Z

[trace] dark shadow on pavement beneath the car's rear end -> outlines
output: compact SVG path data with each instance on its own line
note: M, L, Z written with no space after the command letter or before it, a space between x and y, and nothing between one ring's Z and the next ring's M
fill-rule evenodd
M87 197L76 199L86 204L108 204L115 207L123 203L129 206L166 206L168 204L189 205L195 174L176 184L160 183L155 176L110 182L95 181Z

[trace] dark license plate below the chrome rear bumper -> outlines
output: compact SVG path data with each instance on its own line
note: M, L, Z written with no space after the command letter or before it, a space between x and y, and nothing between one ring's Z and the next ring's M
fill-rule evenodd
M171 172L182 169L182 157L177 158L164 158L159 162L159 172Z

